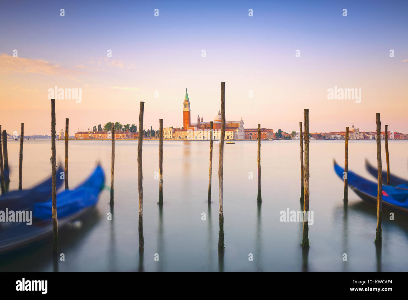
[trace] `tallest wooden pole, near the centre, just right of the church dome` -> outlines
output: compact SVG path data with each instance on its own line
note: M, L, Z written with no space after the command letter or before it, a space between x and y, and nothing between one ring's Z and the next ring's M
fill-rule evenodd
M224 164L224 139L225 139L225 82L221 82L221 134L220 134L220 159L218 162L218 186L220 194L220 232L218 234L218 251L224 251L224 182L223 182L223 164Z

